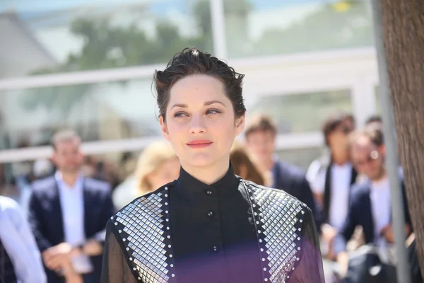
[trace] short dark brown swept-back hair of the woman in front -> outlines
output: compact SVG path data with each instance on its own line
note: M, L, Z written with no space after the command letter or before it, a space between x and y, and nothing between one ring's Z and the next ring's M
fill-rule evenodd
M159 115L165 120L167 104L170 100L170 89L179 79L194 74L206 74L219 79L225 88L225 94L231 100L235 116L241 117L246 108L243 103L242 83L245 75L237 73L223 61L201 52L196 48L184 48L167 64L163 71L155 71L154 83L157 93L156 101Z

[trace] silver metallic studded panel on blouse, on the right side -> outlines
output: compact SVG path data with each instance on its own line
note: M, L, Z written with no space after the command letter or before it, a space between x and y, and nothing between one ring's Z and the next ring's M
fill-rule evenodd
M264 281L284 283L300 260L306 205L283 191L245 184L257 226Z

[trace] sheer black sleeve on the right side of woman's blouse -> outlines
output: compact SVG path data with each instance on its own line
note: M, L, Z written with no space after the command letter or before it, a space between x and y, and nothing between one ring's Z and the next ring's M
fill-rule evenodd
M300 242L300 261L286 283L324 283L324 268L317 227L312 212L305 208Z

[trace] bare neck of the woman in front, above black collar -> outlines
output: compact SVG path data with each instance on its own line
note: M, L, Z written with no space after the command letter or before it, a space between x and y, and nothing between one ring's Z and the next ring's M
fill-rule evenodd
M228 172L230 156L228 156L228 158L223 158L223 161L217 161L208 166L194 166L189 163L184 163L183 161L180 161L180 163L184 171L192 175L192 177L206 185L211 185L223 178Z

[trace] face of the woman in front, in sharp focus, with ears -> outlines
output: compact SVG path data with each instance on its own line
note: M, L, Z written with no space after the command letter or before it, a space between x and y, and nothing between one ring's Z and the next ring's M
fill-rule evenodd
M182 166L211 166L228 164L232 142L242 132L245 117L235 119L221 81L199 74L172 86L166 121L160 117L160 125Z

